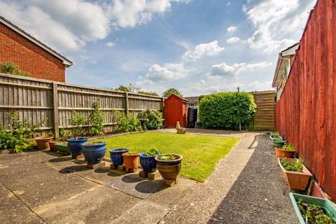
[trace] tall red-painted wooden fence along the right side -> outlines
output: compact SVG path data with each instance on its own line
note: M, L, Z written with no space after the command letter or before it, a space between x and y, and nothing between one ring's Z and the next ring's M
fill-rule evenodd
M279 101L276 129L336 202L336 1L311 10Z

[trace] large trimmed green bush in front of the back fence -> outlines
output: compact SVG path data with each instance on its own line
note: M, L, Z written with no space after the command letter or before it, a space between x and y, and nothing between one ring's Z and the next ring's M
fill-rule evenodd
M247 92L222 92L201 99L200 122L205 128L238 130L248 129L255 114L253 94Z

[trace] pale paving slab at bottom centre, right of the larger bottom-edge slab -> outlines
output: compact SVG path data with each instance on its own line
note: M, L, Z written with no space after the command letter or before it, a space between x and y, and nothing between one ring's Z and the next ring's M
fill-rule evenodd
M168 211L168 207L147 200L142 200L138 204L135 204L131 209L125 211L121 216L119 216L119 218L113 221L113 223L158 223L162 217L168 213Z

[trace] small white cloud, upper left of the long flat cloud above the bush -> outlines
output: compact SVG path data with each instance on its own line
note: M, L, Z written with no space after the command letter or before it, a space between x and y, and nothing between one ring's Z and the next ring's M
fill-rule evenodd
M201 43L195 47L193 51L188 50L182 56L183 59L196 60L204 56L217 56L225 48L218 45L218 41L212 41L210 43Z

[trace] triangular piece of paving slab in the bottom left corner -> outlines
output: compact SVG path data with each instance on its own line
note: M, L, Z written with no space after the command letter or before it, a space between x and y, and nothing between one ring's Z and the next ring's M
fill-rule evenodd
M0 184L0 223L43 223L18 197Z

